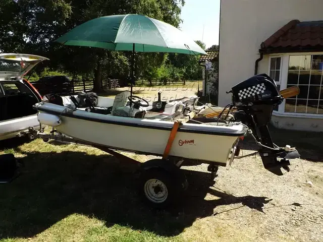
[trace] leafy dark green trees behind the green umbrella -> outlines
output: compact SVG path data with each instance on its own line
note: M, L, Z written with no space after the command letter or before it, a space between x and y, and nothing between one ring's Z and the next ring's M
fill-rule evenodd
M72 76L127 78L130 52L64 46L53 43L70 29L97 17L141 14L181 23L184 0L0 0L0 52L46 56L51 70ZM205 44L196 41L203 49ZM173 53L137 53L136 77L144 79L200 79L198 56Z

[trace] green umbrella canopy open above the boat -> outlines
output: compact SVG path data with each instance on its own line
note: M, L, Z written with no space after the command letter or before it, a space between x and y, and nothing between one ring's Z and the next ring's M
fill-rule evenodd
M87 21L55 42L139 52L206 52L174 26L142 15L114 15Z

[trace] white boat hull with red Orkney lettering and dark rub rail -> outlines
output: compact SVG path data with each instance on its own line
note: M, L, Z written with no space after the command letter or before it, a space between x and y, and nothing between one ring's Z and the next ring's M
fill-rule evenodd
M173 122L88 113L67 114L66 107L44 103L40 113L60 116L56 129L82 141L124 151L163 155ZM60 115L62 113L62 115ZM41 118L38 118L41 123ZM170 156L227 163L232 146L245 133L244 127L183 124L173 142Z

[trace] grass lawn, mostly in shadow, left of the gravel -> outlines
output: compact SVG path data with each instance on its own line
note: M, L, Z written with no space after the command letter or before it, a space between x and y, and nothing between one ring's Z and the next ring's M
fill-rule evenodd
M0 241L184 241L181 219L142 204L127 164L95 148L21 141L0 150L24 163L0 188Z

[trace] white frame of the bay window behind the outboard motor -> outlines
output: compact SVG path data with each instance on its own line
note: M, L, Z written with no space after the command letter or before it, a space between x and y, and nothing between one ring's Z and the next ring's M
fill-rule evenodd
M287 78L288 78L288 69L289 69L289 57L291 55L323 55L323 52L295 52L295 53L283 53L283 54L270 54L268 58L268 76L270 75L270 65L271 59L275 57L281 57L281 74L280 74L280 90L287 88ZM321 82L321 88L323 89L323 80ZM321 97L320 97L321 98ZM310 100L310 99L309 99ZM319 99L320 100L320 99ZM301 113L301 112L285 112L286 99L279 105L278 111L273 111L273 114L277 116L286 116L286 117L309 117L309 118L322 118L323 114L320 113Z

